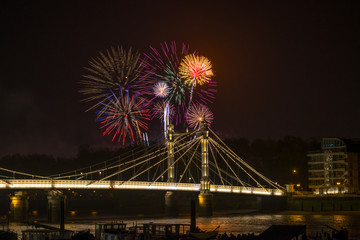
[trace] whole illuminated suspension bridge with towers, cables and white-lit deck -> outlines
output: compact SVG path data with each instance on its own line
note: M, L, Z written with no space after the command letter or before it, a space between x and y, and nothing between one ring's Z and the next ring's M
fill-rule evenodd
M51 176L0 168L1 189L45 189L55 192L50 197L54 199L62 189L164 190L165 202L172 201L172 192L194 191L204 205L200 209L208 212L204 215L212 214L214 192L282 196L285 191L247 164L206 124L181 134L169 125L165 144L141 146L96 165ZM16 199L21 199L21 193Z

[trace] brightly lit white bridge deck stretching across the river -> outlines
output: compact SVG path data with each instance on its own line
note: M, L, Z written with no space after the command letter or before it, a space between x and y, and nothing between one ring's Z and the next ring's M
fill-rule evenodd
M140 181L94 181L94 180L47 180L47 179L0 179L0 189L139 189L167 191L200 191L200 184L140 182ZM273 188L211 185L211 192L275 195L284 192Z

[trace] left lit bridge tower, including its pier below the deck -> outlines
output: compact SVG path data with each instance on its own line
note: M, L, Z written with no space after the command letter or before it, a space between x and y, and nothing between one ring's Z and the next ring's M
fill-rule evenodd
M168 149L168 178L170 183L175 182L175 167L174 167L174 125L168 125L167 134L167 149ZM175 192L167 191L165 194L165 212L167 216L174 217L178 215L177 198Z

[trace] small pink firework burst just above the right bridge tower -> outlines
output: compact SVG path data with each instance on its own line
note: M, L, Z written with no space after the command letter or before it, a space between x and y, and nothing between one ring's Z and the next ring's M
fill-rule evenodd
M202 104L191 105L186 114L186 122L189 124L189 127L193 129L198 129L202 122L211 124L213 120L213 113L208 107Z

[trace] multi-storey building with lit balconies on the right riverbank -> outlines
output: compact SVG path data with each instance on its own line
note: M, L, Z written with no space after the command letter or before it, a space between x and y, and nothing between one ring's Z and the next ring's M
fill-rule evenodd
M360 140L323 138L321 150L307 155L314 194L360 193Z

